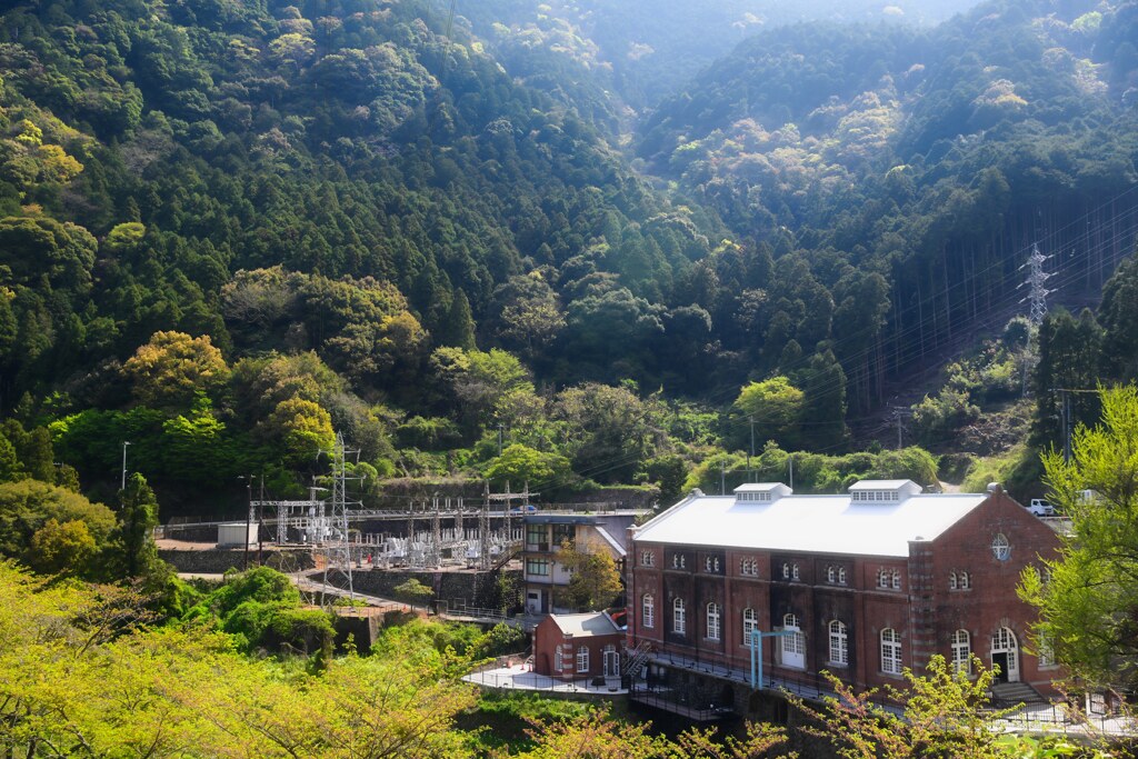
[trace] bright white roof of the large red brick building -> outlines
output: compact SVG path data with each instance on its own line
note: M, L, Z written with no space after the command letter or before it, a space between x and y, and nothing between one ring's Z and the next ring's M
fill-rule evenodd
M898 480L898 486L906 481ZM885 488L874 484L859 489ZM773 502L691 496L641 527L634 539L904 558L909 555L909 541L935 539L987 498L988 494L938 493L855 503L849 495L792 495Z

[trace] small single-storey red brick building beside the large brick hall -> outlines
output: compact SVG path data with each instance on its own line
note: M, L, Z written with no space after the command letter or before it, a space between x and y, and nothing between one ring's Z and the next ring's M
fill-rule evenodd
M564 679L619 677L624 638L603 611L550 614L534 629L534 671Z

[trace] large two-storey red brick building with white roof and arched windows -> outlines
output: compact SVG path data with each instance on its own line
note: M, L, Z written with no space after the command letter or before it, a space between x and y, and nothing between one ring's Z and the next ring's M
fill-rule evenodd
M1050 693L1056 668L1029 652L1036 614L1016 585L1057 547L998 486L696 490L632 530L628 644L662 676L678 661L733 679L751 668L752 632L782 633L764 640L768 677L817 684L826 669L858 688L898 685L904 667L920 671L935 653L960 667L975 654L999 679Z

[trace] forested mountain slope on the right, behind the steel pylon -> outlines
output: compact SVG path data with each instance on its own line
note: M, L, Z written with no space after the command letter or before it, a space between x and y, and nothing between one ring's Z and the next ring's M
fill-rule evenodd
M810 353L834 339L864 409L887 374L1006 321L1034 242L1054 254L1053 303L1097 299L1135 237L1136 39L1133 2L997 1L927 31L783 28L661 104L636 149L818 283L792 300L832 331L795 340ZM754 311L728 297L727 313ZM785 321L767 320L751 330L777 353Z

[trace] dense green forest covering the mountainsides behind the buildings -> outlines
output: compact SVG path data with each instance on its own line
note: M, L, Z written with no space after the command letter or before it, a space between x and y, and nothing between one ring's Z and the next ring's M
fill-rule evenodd
M1059 371L1052 327L1000 335L1031 245L1072 306L1133 249L1132 2L935 27L904 3L846 26L745 2L642 25L636 3L439 5L0 17L8 479L108 500L130 442L130 469L192 509L250 472L295 489L336 430L372 488L668 498L719 467L780 477L795 449L816 456L801 488L931 482L927 454L855 453L847 423L980 330L1003 341L997 399L1036 354ZM742 41L690 83L617 65L643 44L693 66L734 43L724 25ZM676 47L691 26L699 55ZM1095 377L1132 371L1114 303ZM976 381L950 374L923 410L942 442Z

